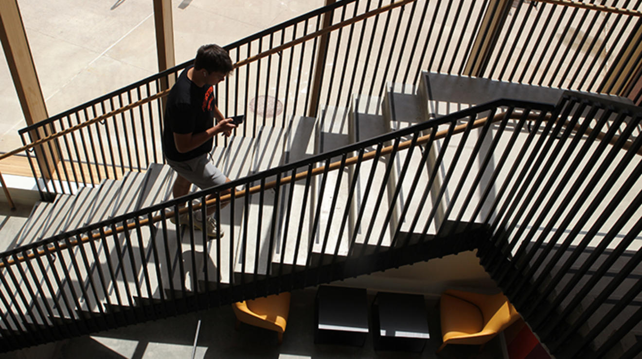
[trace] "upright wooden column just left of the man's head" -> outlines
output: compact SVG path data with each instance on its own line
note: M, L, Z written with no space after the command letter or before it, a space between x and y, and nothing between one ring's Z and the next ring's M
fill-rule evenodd
M159 60L159 72L162 72L176 65L171 0L154 0L154 26L156 28L156 52ZM173 86L175 80L173 77L161 79L160 90L167 90ZM165 99L166 97L162 98L163 105L165 104Z

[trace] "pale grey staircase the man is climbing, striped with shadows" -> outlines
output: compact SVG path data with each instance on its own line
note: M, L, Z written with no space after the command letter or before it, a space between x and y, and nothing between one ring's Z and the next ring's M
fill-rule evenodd
M145 172L128 172L121 180L80 187L73 195L58 195L50 203L37 203L13 240L15 249L1 262L3 349L475 249L480 250L487 271L518 310L525 312L528 323L548 328L548 319L537 317L535 308L554 315L562 303L551 305L540 299L535 303L539 307L532 307L532 301L520 294L537 297L542 291L564 291L552 285L551 278L562 278L562 286L568 283L582 259L570 270L564 267L542 273L540 266L561 261L550 256L541 260L545 257L541 257L541 243L532 246L519 235L507 241L503 234L528 227L529 223L517 223L519 218L512 217L512 212L517 203L528 207L516 193L540 190L529 185L532 179L523 179L528 171L536 171L529 165L535 157L546 155L539 152L542 143L552 143L555 129L560 131L544 121L545 115L563 112L567 106L576 110L571 113L569 109L566 115L578 120L582 116L600 118L606 110L586 113L573 107L573 101L586 101L564 95L557 109L507 100L437 115L434 79L433 74L424 73L416 86L387 84L383 97L353 95L350 108L325 106L317 118L293 117L283 127L259 127L252 138L238 134L220 140L212 158L232 179L220 188L235 189L234 196L244 194L232 196L229 205L217 212L225 232L220 239L209 239L195 228L169 220L184 200L194 213L192 220L198 220L204 214L200 203L218 191L193 191L183 200L173 200L175 174L163 164L152 164ZM535 113L529 112L532 109ZM474 122L496 115L501 115L496 124ZM602 123L611 121L603 117ZM591 147L591 141L590 136L588 140L578 138L575 145ZM585 152L575 152L575 156ZM526 156L531 156L528 161ZM372 159L362 161L367 157ZM332 170L322 167L331 164ZM317 175L305 174L315 168ZM630 167L624 168L628 173ZM286 182L297 173L304 174ZM275 186L266 187L274 181ZM603 179L595 184L607 186ZM639 186L635 181L633 185ZM251 193L257 186L260 190ZM512 202L514 198L517 202ZM553 208L568 206L551 198L548 202ZM535 223L553 223L553 212L542 212ZM571 224L575 223L579 222ZM577 226L584 228L581 223ZM631 243L636 240L634 236ZM568 243L577 245L574 239ZM573 247L561 250L568 248ZM32 254L38 251L44 254ZM18 263L9 265L9 261ZM517 269L522 270L519 273L532 270L528 277L532 279L519 282L522 277L514 274ZM515 285L523 291L517 292ZM600 288L591 287L584 295L598 296ZM627 310L635 312L640 302L635 298ZM588 333L591 328L583 330ZM627 337L632 340L629 347L637 345L638 330ZM550 329L546 333L555 336ZM604 340L596 342L600 345ZM609 355L614 357L613 353L629 347Z

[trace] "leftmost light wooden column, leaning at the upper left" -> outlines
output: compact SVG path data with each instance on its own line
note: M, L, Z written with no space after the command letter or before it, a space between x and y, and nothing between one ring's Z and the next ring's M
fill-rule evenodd
M49 115L40 89L38 74L33 64L17 0L0 1L0 40L26 125L33 125L45 120ZM35 139L46 136L46 134L51 134L51 131L47 133L39 131L37 134L32 133L31 136ZM55 173L54 168L58 163L56 148L55 142L35 148L43 177L50 178Z

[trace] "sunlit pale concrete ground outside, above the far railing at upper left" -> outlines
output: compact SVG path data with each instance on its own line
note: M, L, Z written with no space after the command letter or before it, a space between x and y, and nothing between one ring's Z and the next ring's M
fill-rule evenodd
M324 3L173 0L176 63L194 58L200 45L230 44ZM50 116L158 72L150 0L19 0L18 5ZM22 145L17 135L22 127L12 77L0 61L0 153Z

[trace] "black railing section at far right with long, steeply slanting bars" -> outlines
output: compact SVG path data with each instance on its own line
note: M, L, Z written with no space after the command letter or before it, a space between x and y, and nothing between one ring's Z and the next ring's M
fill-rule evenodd
M558 111L539 153L520 157L533 165L501 189L482 264L551 353L604 358L640 326L642 111L577 93ZM624 349L610 357L639 355Z

